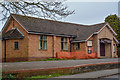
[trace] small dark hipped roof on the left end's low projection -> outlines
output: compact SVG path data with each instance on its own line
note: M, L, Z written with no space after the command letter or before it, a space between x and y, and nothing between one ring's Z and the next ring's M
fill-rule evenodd
M2 36L2 38L3 39L20 39L20 38L24 38L24 35L17 28L13 28L8 32L6 32Z

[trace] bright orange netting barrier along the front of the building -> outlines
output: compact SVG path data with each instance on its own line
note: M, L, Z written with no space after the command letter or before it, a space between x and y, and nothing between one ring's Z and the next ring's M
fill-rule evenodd
M80 52L57 52L56 58L59 59L95 59L98 58L97 53L88 54L84 51Z

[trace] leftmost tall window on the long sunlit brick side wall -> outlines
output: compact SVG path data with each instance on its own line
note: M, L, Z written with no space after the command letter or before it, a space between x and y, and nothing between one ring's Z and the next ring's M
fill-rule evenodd
M47 36L39 36L39 49L47 49Z

